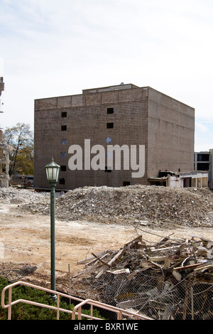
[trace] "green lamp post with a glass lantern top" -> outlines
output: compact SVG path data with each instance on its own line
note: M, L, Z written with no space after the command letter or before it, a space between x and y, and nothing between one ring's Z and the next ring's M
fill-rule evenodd
M50 183L50 256L51 256L51 290L55 291L55 185L58 182L60 166L52 161L45 166L48 182ZM56 298L53 295L53 298Z

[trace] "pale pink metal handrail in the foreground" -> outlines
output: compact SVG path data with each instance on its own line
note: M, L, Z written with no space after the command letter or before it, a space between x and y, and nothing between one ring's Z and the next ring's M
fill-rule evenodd
M17 299L16 301L12 301L12 288L14 286L17 286L17 285L30 286L33 289L43 290L47 293L55 294L56 300L57 300L56 301L56 306L50 306L50 305L43 304L43 303L37 303L35 301L28 301L26 299ZM6 292L6 290L9 290L8 304L5 304L5 292ZM72 311L66 310L65 308L60 308L60 297L68 298L68 299L70 299L70 301L71 300L79 301L79 303L73 308ZM57 320L59 320L59 318L60 318L60 312L65 312L65 313L72 314L72 320L75 320L76 316L77 316L78 320L81 320L82 317L83 318L88 318L90 320L102 320L101 318L97 318L97 317L93 316L93 308L94 307L103 308L107 311L111 311L111 312L116 313L117 320L124 319L124 316L129 317L132 320L153 320L152 318L148 318L146 316L142 316L142 315L137 314L137 313L132 313L132 312L126 311L124 309L117 308L115 306L100 303L98 301L93 301L92 299L82 300L82 299L76 298L74 296L69 296L65 293L61 293L61 292L58 292L58 291L53 291L53 290L50 290L50 289L46 289L46 288L43 288L41 286L35 286L34 284L30 284L30 283L23 282L23 281L18 281L16 283L5 286L4 289L1 292L1 306L3 308L8 308L8 320L11 320L12 306L17 304L17 303L28 303L28 304L31 304L33 306L40 306L40 307L43 307L43 308L50 308L52 310L55 310L57 312ZM82 306L84 306L86 304L90 305L90 315L82 313Z

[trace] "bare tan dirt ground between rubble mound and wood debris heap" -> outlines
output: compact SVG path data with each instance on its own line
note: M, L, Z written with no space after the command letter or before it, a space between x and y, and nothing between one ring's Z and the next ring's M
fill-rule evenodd
M153 230L132 225L111 225L86 221L55 221L56 270L67 273L68 264L72 275L84 266L77 262L91 253L105 249L119 249L137 235L150 242L162 237L187 239L192 235L213 239L212 228L177 227L174 230ZM50 217L46 215L21 214L17 204L0 204L0 260L36 264L45 274L50 267Z

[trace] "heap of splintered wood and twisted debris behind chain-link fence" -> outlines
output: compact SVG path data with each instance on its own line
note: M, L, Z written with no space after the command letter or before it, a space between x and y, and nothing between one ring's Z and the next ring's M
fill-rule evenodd
M213 242L164 237L148 245L136 237L119 251L83 259L72 293L133 309L158 320L213 320Z

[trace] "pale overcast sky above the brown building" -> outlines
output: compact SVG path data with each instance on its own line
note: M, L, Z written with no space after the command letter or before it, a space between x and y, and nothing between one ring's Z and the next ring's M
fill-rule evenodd
M213 149L212 0L0 0L0 29L1 128L124 82L194 107L195 151Z

